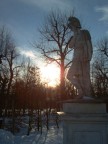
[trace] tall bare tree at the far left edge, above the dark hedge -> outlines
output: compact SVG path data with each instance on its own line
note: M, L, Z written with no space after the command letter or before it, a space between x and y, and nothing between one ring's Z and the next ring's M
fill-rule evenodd
M2 75L6 74L5 76L7 76L7 94L9 94L15 69L19 66L15 65L15 60L18 57L15 43L11 33L8 32L5 27L2 27L0 31L0 54L2 59L1 73Z

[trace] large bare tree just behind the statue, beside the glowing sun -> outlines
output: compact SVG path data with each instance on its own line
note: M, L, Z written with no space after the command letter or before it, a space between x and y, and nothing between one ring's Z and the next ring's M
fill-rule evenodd
M65 71L72 62L69 59L69 53L72 49L68 48L72 38L68 27L68 17L60 11L51 11L45 24L39 29L41 42L34 44L36 48L41 50L47 62L56 62L59 65L62 98L65 90Z

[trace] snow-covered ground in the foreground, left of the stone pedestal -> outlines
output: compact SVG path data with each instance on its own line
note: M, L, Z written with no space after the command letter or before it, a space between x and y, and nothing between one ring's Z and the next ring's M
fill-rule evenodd
M43 128L42 134L35 130L30 132L30 135L24 135L23 129L17 135L11 132L0 129L0 144L62 144L63 143L63 129L62 124L59 128L50 126L47 131Z

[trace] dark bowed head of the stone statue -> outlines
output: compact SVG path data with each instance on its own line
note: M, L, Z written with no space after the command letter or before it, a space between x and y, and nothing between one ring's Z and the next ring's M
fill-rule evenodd
M76 17L69 17L68 21L69 21L69 24L68 24L69 28L71 28L72 26L76 28L81 28L80 21Z

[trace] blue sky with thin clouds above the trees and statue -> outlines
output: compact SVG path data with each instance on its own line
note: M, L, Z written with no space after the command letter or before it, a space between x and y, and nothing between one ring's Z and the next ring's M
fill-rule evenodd
M107 0L0 0L0 25L6 25L13 33L17 46L24 51L29 42L39 38L38 27L51 9L75 10L96 40L108 35ZM28 48L29 49L29 48Z

